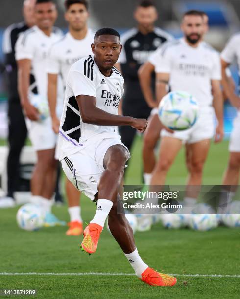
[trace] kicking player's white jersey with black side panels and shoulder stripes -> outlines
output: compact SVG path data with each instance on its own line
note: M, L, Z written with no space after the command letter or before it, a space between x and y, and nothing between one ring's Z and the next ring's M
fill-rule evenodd
M110 77L105 77L96 65L93 56L85 57L75 62L68 74L64 108L59 130L60 160L73 154L86 144L105 138L120 137L116 134L117 127L98 126L82 121L76 101L78 95L96 98L96 107L118 114L118 106L123 95L124 79L113 67Z

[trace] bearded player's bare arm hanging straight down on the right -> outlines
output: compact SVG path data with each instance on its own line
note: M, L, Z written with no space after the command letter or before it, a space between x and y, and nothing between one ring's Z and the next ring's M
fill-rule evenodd
M215 110L218 125L216 127L215 142L219 142L224 137L223 130L223 95L219 80L212 80L213 107Z

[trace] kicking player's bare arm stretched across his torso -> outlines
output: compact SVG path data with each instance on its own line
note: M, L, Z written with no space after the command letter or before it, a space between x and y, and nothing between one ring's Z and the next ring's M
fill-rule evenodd
M97 108L95 97L79 95L76 100L84 123L98 126L132 126L140 132L144 132L147 127L146 119L115 115Z

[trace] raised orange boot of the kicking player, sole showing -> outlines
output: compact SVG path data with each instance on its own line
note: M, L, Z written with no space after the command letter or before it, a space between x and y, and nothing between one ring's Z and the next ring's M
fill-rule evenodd
M83 231L84 239L80 246L82 251L86 251L90 255L95 253L102 229L103 227L96 223L90 223L85 228Z

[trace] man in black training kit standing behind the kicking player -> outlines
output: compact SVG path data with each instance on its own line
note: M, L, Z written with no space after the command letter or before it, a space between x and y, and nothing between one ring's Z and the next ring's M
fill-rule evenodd
M120 63L122 74L125 78L126 92L122 99L122 115L132 115L136 118L148 118L153 105L147 104L138 80L138 69L146 62L162 43L172 40L172 37L154 27L158 19L157 9L150 0L141 1L134 12L137 28L127 31L121 37L122 52ZM151 78L154 88L154 79ZM131 150L136 130L129 126L120 127L122 143Z

